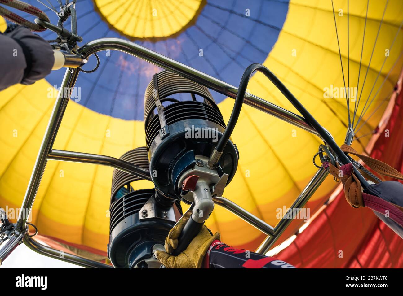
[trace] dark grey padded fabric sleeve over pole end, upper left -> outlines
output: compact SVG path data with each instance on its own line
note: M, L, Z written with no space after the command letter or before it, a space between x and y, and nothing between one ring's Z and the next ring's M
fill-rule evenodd
M25 27L9 24L0 33L0 91L21 83L33 84L52 70L52 46Z

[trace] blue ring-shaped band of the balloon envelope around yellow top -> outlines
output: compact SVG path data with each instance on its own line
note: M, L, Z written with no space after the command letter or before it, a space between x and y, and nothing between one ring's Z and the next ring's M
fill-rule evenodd
M30 4L43 9L56 24L54 12L31 0ZM47 2L45 2L47 3ZM52 1L56 7L57 1ZM246 9L250 15L247 16ZM110 28L94 9L91 0L76 4L78 34L83 37L79 46L102 37L124 38ZM174 37L159 41L135 40L183 64L238 86L242 73L251 63L262 63L277 41L288 10L288 1L220 1L208 0L193 25ZM65 23L70 27L70 22ZM39 33L55 39L52 31ZM203 50L203 56L200 52ZM161 68L148 62L111 51L99 52L100 67L91 74L80 73L76 87L80 87L81 105L96 112L127 120L143 120L144 92L152 76ZM91 70L96 58L91 56L83 67ZM46 78L60 87L65 69L52 71ZM225 96L212 91L217 102Z

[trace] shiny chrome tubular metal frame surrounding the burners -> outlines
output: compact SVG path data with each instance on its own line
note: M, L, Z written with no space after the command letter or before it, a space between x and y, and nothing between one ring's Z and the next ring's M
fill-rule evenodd
M91 56L92 54L102 50L118 50L120 52L125 52L132 56L136 56L138 58L141 58L142 60L155 64L156 66L159 66L166 70L170 70L171 72L174 72L191 81L204 85L210 89L213 89L214 91L218 91L219 93L232 97L233 99L235 99L237 95L238 91L237 87L229 85L228 83L220 81L214 77L206 75L189 66L181 64L175 60L162 56L156 52L153 52L152 50L149 50L147 48L144 48L136 43L127 40L118 38L97 39L81 47L79 49L79 54L81 54L83 58L89 58L89 56ZM80 71L79 69L72 69L72 68L66 69L66 73L64 75L62 85L58 93L58 97L54 104L54 108L50 116L48 126L46 128L46 132L42 140L42 144L39 148L37 159L35 161L31 178L29 180L27 190L23 199L21 208L25 209L25 211L20 211L20 215L17 220L16 226L21 230L21 232L25 232L28 217L28 215L26 215L25 217L23 213L30 213L31 211L35 195L39 188L39 184L46 167L46 163L49 159L111 166L113 168L122 170L129 174L141 176L142 178L150 180L149 172L144 172L143 169L137 166L133 166L132 164L127 163L126 161L116 159L114 157L52 149L54 140L56 139L56 135L60 127L60 122L62 121L64 112L67 107L67 103L69 102L71 96L71 92L67 93L66 96L64 96L65 94L64 89L65 87L73 89L75 82L77 81L79 71ZM260 111L268 113L276 118L289 122L304 130L307 130L313 133L314 135L320 137L318 132L305 120L305 118L293 112L290 112L286 109L283 109L273 103L270 103L264 99L261 99L260 97L247 93L245 95L244 103ZM318 186L326 178L327 174L328 173L324 169L318 170L318 172L316 172L312 180L301 192L299 197L295 200L291 208L300 209L301 207L303 207L305 203L310 199L312 194L316 191ZM225 199L224 197L216 197L214 198L214 201L218 205L221 205L222 207L228 209L235 215L241 217L241 219L244 219L249 224L256 227L258 230L262 231L265 234L268 234L267 238L264 240L264 242L262 242L262 244L257 250L259 253L266 253L266 251L274 244L274 242L278 239L280 234L283 233L285 228L287 228L287 226L292 221L292 219L285 219L284 217L282 220L280 220L278 225L272 227L268 225L266 222L259 219L258 217L252 215L245 209L239 207L239 205L233 203L232 201L229 201L228 199ZM21 240L23 240L23 242L35 252L55 259L60 259L62 261L81 265L84 267L93 267L93 268L110 267L110 265L106 265L98 261L93 261L90 259L86 259L80 256L71 255L67 253L65 253L64 256L61 258L59 256L59 250L40 244L35 239L29 237L27 234L23 238L13 237L10 240L10 242L8 242L7 246L9 245L16 246L17 244L21 243ZM3 251L4 248L2 248L1 250L2 253L0 252L0 254L6 257L12 251L12 249L13 248L8 248L7 250Z

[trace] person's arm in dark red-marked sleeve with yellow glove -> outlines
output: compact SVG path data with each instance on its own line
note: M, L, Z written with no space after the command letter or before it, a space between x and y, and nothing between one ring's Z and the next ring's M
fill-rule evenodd
M220 241L203 226L186 250L178 256L170 255L178 246L178 238L188 217L174 226L165 239L165 250L156 251L157 259L168 268L295 268L284 261L266 257L244 249L235 249Z

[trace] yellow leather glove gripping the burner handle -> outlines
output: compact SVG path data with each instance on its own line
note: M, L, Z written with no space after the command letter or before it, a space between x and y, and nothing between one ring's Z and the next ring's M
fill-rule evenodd
M184 217L177 226L169 231L168 237L165 239L166 252L155 251L157 259L168 268L201 268L208 248L214 240L220 239L220 233L216 232L212 235L210 230L203 225L199 234L191 241L186 250L178 256L170 255L169 253L177 248L179 235L188 219L189 216Z

